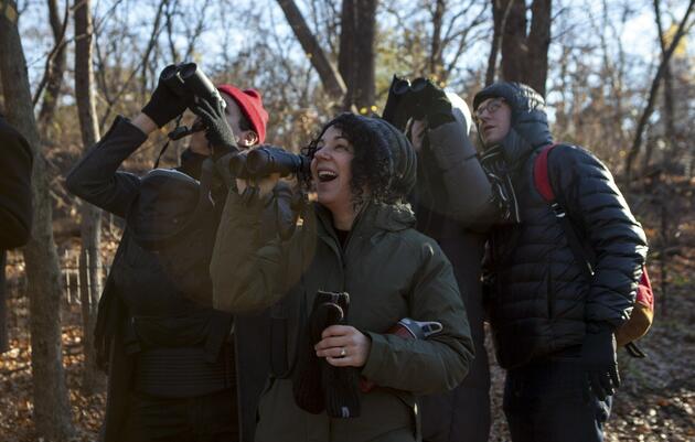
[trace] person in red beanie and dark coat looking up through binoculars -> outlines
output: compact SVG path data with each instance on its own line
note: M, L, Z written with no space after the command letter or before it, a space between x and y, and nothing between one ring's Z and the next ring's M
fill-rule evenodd
M232 85L217 88L226 106L207 100L192 104L160 83L142 111L133 119L117 117L65 180L71 193L126 218L127 225L95 327L97 357L103 368L108 367L100 436L105 442L239 440L232 315L212 309L205 265L227 195L222 180L211 180L215 184L203 193L210 196L210 206L201 211L193 206L195 224L174 213L191 207L191 185L195 204L204 201L197 194L207 182L203 163L209 157L265 141L268 112L260 94ZM189 106L200 117L193 127L204 126L205 130L188 137L188 149L175 171L158 169L138 176L119 170L150 133ZM162 177L169 181L157 187ZM185 257L170 249L148 248L141 240L138 222L147 222L148 216L158 220L160 215L172 224L194 227L170 237L170 249L183 249ZM167 231L163 224L156 230ZM209 234L194 236L196 231L212 233L212 239ZM195 267L185 267L189 261ZM184 271L172 271L175 266Z

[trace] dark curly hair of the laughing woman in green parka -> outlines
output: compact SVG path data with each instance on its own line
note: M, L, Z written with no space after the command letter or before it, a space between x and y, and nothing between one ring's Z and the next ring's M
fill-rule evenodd
M364 190L368 190L370 200L383 203L394 203L397 197L391 191L393 175L391 152L378 132L361 120L363 117L354 114L341 114L325 125L318 137L307 148L304 154L313 159L318 151L318 143L323 133L332 126L340 129L345 139L354 149L354 157L350 163L352 180L350 188L353 195L353 204L361 205L365 202Z

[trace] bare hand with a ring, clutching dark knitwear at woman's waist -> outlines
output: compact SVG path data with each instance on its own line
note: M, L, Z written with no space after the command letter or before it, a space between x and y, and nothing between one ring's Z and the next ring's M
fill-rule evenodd
M362 367L372 348L372 341L350 325L331 325L314 346L318 357L334 367Z

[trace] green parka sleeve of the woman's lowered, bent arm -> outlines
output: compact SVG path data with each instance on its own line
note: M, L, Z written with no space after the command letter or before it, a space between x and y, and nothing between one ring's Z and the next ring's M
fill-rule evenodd
M367 332L372 348L362 375L382 387L426 395L458 386L474 349L451 265L436 244L426 242L420 251L410 314L417 321L439 321L443 328L421 341Z

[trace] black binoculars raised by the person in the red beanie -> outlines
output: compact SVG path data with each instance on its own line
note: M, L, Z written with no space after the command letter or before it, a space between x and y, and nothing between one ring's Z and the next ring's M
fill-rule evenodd
M223 107L226 107L226 103L215 85L195 63L169 65L162 71L159 79L181 98L197 97L211 103L218 100Z

